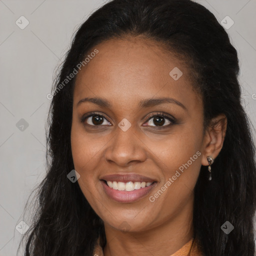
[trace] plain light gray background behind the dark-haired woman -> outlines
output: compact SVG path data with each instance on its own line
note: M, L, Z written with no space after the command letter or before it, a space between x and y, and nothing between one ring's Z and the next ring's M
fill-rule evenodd
M227 15L234 21L226 31L240 60L243 105L256 127L256 0L197 2L220 23ZM50 103L46 94L54 70L77 26L103 3L0 0L0 256L16 255L21 234L15 226L32 188L45 175L44 127ZM24 29L15 23L22 15L29 21ZM21 118L28 123L23 131L16 126Z

